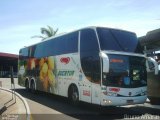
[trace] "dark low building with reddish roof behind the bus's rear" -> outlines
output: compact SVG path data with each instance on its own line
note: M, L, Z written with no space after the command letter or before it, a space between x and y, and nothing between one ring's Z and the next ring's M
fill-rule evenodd
M17 76L18 55L0 52L0 78L10 77L11 67L13 67L14 76Z

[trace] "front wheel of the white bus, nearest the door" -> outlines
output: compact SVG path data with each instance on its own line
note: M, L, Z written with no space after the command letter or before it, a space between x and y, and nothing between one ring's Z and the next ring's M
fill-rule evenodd
M71 85L68 90L68 98L73 105L78 105L79 103L79 93L76 85Z

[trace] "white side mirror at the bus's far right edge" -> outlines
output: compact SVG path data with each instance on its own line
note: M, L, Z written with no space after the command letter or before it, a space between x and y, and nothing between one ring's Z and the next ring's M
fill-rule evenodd
M158 63L155 59L151 57L147 57L147 71L150 72L151 70L154 70L155 75L158 75ZM151 62L153 65L150 67L149 62Z

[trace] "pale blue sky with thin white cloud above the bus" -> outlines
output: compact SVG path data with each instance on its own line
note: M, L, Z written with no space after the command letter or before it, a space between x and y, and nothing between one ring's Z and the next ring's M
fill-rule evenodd
M160 28L160 0L0 0L0 52L40 42L40 28L58 34L88 26L135 32L138 37Z

